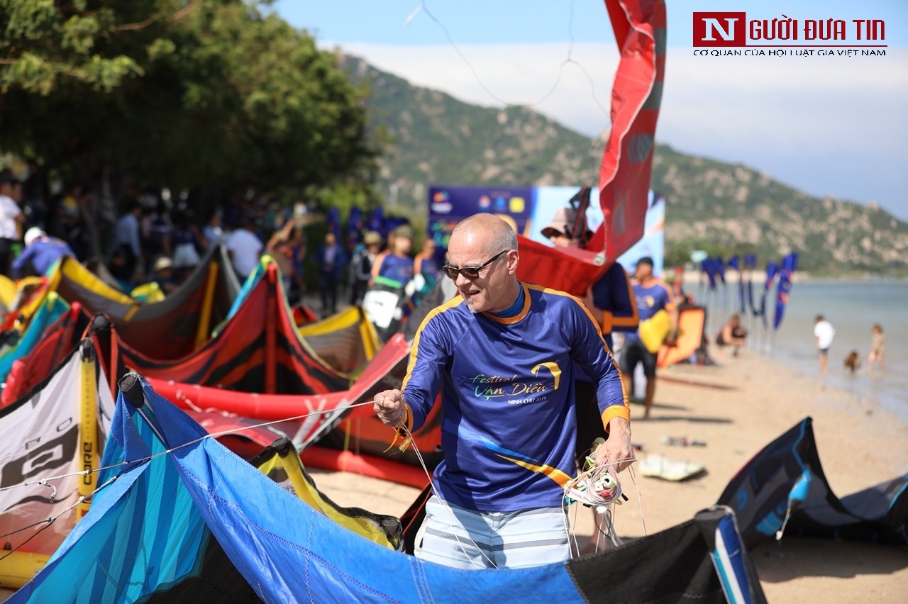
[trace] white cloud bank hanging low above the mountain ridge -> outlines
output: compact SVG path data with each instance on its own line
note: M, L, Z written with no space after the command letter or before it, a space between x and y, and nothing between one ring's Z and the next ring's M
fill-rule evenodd
M568 48L465 45L459 47L465 62L449 45L344 45L382 70L461 101L532 103L597 136L609 122L617 48L575 44L571 57L586 74L577 64L562 65ZM669 48L656 138L683 151L745 162L809 193L878 200L908 218L905 106L904 49L889 48L885 57L698 57L692 48Z

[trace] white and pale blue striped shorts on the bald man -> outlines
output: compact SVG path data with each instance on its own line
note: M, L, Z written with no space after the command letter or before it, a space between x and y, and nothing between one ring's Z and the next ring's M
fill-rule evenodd
M518 569L568 560L568 532L568 513L560 507L465 510L433 495L415 553L459 569Z

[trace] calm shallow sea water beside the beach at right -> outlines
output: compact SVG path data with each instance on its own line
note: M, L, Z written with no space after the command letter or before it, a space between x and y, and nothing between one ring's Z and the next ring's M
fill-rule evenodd
M729 282L726 287L727 293L719 286L716 292L704 292L706 295L700 297L713 310L708 321L712 334L716 333L725 317L740 310L737 283ZM762 283L754 283L757 306L762 289ZM857 396L867 409L895 414L908 423L908 282L795 282L789 293L782 325L775 333L772 328L775 289L767 297L766 307L769 319L767 331L764 331L759 317L745 316L743 320L750 332L748 354L759 353L775 358L798 373L817 378L821 385ZM825 375L820 371L814 338L814 318L817 315L823 315L835 328L835 337L829 349L829 369ZM886 336L886 369L883 373L876 365L873 375L868 375L867 355L874 323L883 326ZM845 356L853 350L857 351L861 363L854 374L844 367Z

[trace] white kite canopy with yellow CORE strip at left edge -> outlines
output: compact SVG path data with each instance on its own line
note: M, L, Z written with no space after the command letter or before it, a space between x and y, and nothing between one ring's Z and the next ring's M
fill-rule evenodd
M16 558L52 554L87 511L79 498L94 490L95 474L80 472L98 466L113 414L114 397L91 342L0 409L0 559L16 550L15 558L0 560L0 585L24 583L11 571ZM29 570L25 577L34 574Z

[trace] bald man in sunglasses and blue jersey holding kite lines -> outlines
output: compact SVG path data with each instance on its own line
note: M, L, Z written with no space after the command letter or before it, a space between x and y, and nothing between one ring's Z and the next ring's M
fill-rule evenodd
M575 297L521 283L517 237L477 214L459 222L445 274L459 297L432 310L410 350L403 391L376 396L382 422L417 430L441 392L444 461L419 556L459 568L567 560L564 485L575 473L574 368L597 384L610 437L596 453L631 461L627 398L593 317Z

